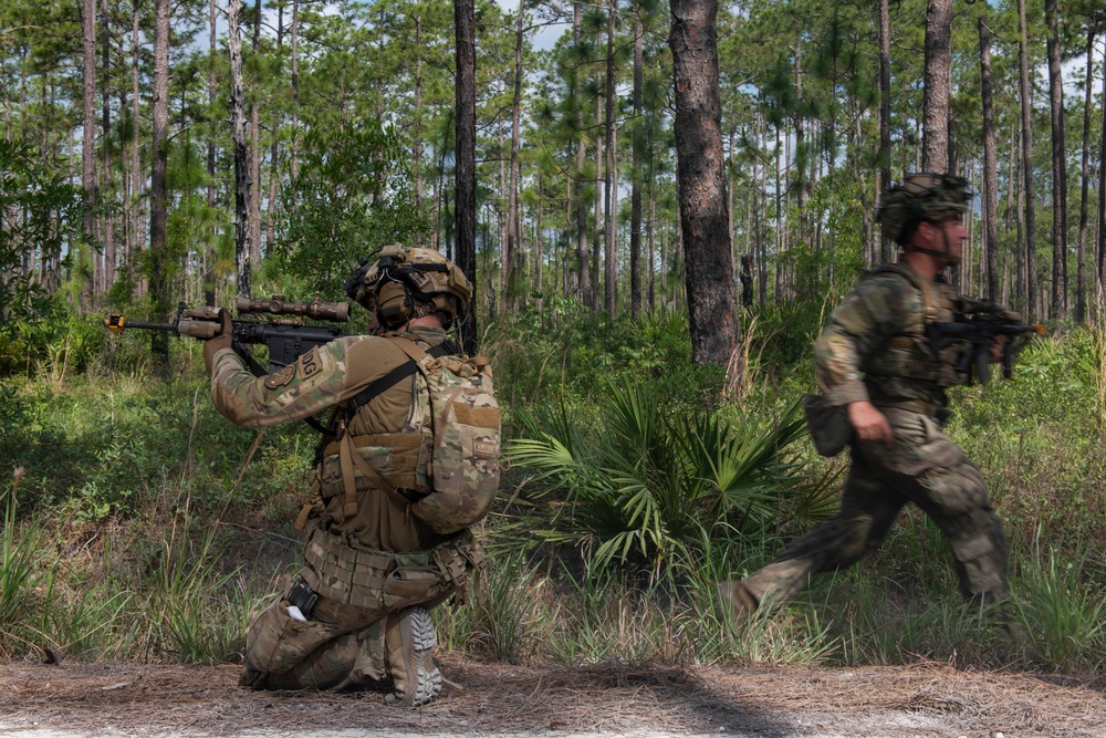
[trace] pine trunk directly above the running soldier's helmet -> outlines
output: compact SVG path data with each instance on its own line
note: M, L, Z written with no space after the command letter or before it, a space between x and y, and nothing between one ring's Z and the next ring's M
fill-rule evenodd
M926 171L949 169L949 97L952 92L952 0L926 6L922 159Z

